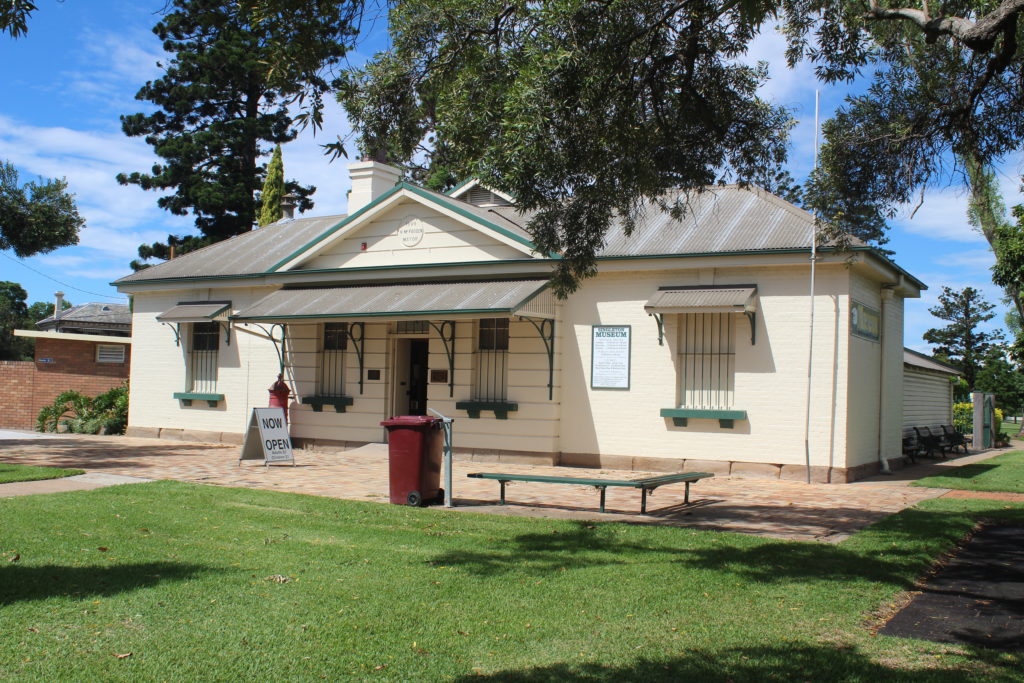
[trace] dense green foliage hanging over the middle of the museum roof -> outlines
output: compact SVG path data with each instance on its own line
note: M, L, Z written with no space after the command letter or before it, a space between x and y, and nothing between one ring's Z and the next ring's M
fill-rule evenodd
M565 294L595 271L613 220L629 231L651 204L679 214L686 193L774 176L792 120L757 94L766 66L738 59L770 10L407 0L389 15L391 49L351 73L339 100L364 154L428 184L474 175L536 211L528 229L561 253L553 284Z

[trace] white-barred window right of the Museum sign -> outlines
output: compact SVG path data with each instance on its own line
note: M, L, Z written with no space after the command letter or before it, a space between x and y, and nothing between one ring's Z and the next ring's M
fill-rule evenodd
M735 318L732 313L679 315L680 408L732 408Z

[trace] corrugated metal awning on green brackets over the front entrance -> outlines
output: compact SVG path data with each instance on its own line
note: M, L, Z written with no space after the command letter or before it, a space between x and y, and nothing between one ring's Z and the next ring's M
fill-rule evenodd
M546 280L423 283L372 287L279 290L232 319L374 317L486 313L514 314L546 287ZM545 292L539 296L550 293Z

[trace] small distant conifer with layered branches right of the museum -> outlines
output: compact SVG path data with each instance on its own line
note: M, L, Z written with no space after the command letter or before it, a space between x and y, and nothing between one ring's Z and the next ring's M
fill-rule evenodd
M973 287L953 291L942 288L939 305L928 311L939 319L947 321L944 328L933 328L924 338L935 346L935 354L952 362L964 372L970 390L976 388L978 372L993 344L1002 339L1002 333L981 332L978 326L995 316L994 306L981 298Z

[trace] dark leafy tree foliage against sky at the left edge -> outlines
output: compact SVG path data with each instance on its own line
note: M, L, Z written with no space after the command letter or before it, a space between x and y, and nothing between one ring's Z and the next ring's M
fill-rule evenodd
M0 161L0 249L32 256L78 244L85 220L63 178L19 184L13 164Z

